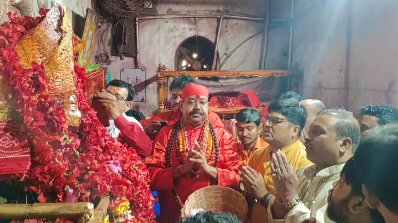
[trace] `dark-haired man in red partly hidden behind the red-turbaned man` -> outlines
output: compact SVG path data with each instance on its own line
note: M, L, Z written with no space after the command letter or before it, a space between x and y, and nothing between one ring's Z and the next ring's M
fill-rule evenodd
M173 110L160 113L158 115L152 115L149 119L140 121L148 135L156 136L158 134L159 130L162 128L160 126L161 121L167 121L168 125L172 125L178 121L181 114L178 109L179 102L181 101L181 92L185 85L189 83L197 84L197 81L187 74L183 74L175 78L170 84L170 90L172 93L171 104ZM220 117L214 112L209 111L209 120L213 125L224 126Z

